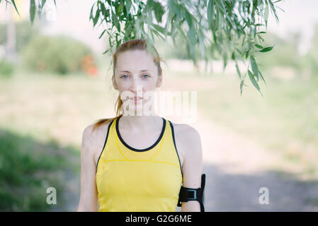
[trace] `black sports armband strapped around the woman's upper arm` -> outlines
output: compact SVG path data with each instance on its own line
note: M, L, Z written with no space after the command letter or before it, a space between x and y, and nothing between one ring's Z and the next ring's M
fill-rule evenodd
M198 201L200 203L201 212L205 212L203 202L204 202L204 187L205 187L205 174L201 175L201 186L198 189L191 189L181 186L179 192L178 205L181 206L182 202L187 201Z

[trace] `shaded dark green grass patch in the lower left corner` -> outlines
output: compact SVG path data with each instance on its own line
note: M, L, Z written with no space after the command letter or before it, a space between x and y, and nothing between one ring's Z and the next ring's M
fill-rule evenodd
M0 130L0 210L50 211L63 209L64 175L79 170L74 148ZM47 188L57 191L57 206L46 202Z

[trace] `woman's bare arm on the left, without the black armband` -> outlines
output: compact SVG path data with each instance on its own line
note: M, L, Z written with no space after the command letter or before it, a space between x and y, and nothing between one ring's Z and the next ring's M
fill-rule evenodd
M93 126L87 126L81 141L81 195L77 211L97 211L96 164L94 161L95 139L91 134Z

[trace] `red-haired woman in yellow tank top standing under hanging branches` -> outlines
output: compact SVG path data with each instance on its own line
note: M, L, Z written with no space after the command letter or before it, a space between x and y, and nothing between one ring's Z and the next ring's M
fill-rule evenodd
M182 183L200 188L202 150L193 127L155 114L125 114L125 103L136 113L147 103L140 92L162 83L161 59L154 51L157 56L145 40L129 40L113 54L112 82L120 94L117 117L84 129L78 211L176 211ZM121 98L123 93L131 98ZM200 203L183 202L181 211L200 211Z

